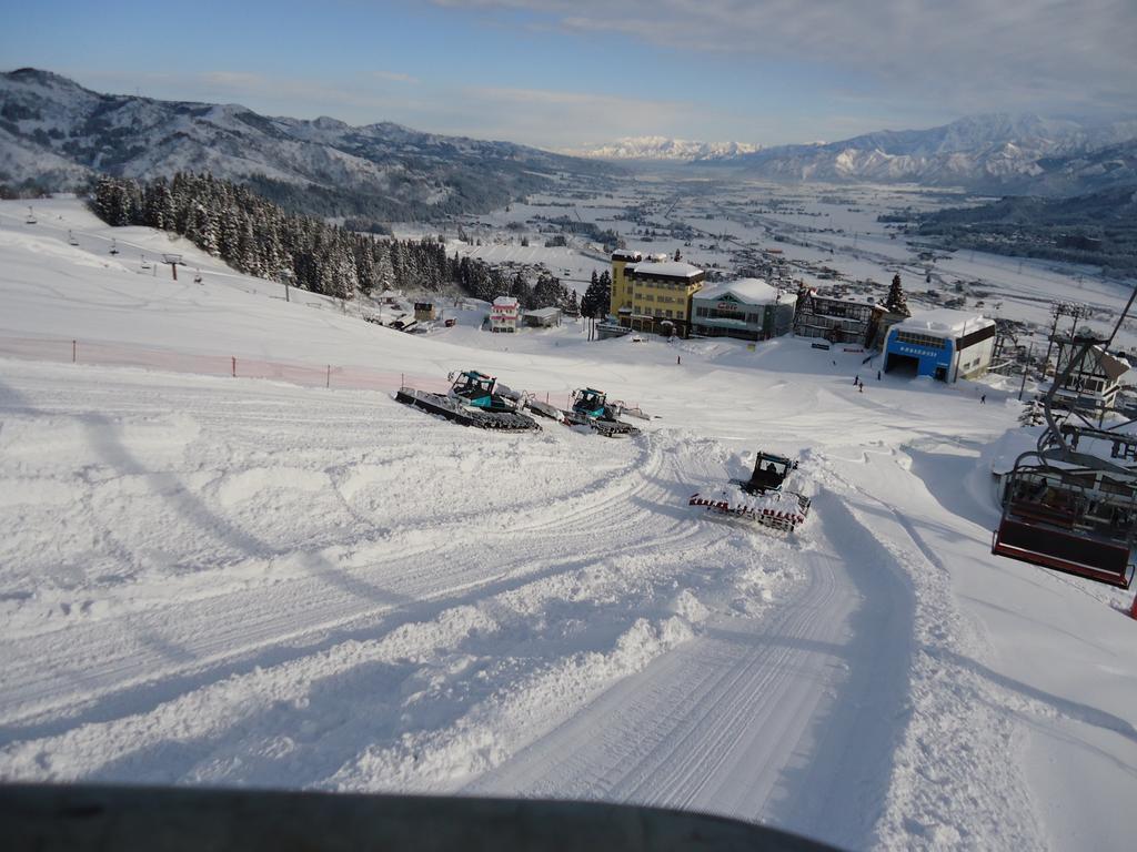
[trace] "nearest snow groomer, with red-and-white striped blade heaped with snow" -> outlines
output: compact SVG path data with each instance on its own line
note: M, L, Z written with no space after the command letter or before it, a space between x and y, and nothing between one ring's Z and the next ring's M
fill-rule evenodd
M729 485L700 491L689 503L791 533L810 515L810 498L783 487L792 470L797 470L796 461L758 452L749 479L731 479Z

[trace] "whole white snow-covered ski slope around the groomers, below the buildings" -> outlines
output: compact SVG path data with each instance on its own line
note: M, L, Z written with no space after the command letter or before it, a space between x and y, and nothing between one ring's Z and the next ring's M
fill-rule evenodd
M989 554L985 453L1012 394L878 382L791 339L413 337L75 201L23 212L0 202L0 349L473 367L657 419L626 441L487 434L393 387L0 358L0 778L606 799L858 849L1128 847L1130 595ZM182 251L204 283L140 274L111 236ZM795 536L687 506L757 449L800 458Z

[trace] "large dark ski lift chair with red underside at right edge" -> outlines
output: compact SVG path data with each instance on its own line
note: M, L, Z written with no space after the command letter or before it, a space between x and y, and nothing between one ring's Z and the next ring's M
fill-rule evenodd
M991 553L1129 588L1135 485L1109 471L1057 467L1037 451L1026 452L1009 474Z

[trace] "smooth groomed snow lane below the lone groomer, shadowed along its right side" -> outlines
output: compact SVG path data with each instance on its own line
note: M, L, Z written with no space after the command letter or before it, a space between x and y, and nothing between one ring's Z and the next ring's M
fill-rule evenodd
M704 810L863 847L906 687L911 591L838 500L814 507L789 599L709 619L466 792Z

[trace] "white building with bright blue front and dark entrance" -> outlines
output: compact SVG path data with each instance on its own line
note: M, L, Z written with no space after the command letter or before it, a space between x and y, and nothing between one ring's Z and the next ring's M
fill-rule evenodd
M986 373L994 350L994 319L946 308L922 311L888 329L885 373L955 382Z

